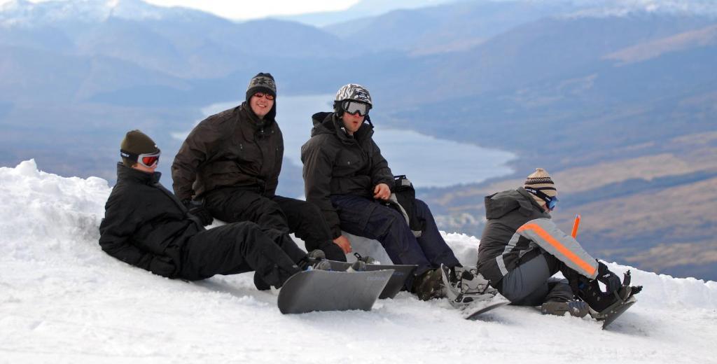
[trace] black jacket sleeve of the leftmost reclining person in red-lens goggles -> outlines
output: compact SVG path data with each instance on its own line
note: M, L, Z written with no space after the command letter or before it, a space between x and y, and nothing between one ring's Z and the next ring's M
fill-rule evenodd
M110 196L105 205L105 219L100 223L100 246L105 253L125 263L163 277L174 277L176 267L169 257L143 251L132 244L132 234L141 224L141 214L135 206L127 198Z

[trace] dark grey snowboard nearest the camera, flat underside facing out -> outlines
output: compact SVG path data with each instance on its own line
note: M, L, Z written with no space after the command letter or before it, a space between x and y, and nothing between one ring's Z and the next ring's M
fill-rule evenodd
M374 272L298 272L284 283L277 305L282 314L311 311L370 311L392 269Z

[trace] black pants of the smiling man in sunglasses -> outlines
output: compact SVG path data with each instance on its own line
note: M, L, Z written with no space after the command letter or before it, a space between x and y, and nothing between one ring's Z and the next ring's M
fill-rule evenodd
M217 219L226 222L252 221L282 234L294 233L305 241L309 252L321 249L328 259L346 262L341 248L333 244L331 230L321 211L312 203L282 196L265 197L241 188L212 191L206 194L204 200L209 212Z

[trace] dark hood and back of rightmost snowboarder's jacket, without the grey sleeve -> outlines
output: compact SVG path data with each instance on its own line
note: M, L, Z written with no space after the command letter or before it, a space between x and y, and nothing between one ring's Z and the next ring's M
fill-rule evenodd
M485 218L488 222L478 246L478 271L492 284L497 284L505 271L496 258L502 256L503 268L509 272L517 267L519 258L536 248L536 244L516 231L528 221L550 219L550 214L543 211L528 191L519 187L485 196Z

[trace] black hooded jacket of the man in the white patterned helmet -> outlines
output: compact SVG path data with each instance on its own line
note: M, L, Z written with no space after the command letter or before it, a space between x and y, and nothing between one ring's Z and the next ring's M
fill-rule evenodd
M348 135L343 121L333 112L313 115L311 138L301 147L306 201L321 209L331 227L333 239L341 236L341 221L331 204L331 195L358 195L373 198L374 187L394 184L389 163L371 138L374 127L361 125Z

